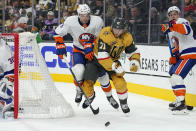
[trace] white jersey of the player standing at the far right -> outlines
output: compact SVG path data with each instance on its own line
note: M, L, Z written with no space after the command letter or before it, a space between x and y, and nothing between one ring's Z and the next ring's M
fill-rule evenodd
M178 26L178 24L181 24ZM171 47L178 48L180 58L196 59L196 40L193 37L193 30L189 21L184 18L178 18L177 28L168 33Z

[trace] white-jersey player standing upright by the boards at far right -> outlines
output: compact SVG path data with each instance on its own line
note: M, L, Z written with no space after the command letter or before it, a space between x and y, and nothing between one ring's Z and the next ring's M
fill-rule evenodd
M196 64L196 40L189 21L180 18L180 9L172 6L168 9L169 23L162 24L162 32L169 36L170 46L170 83L176 100L169 104L171 111L186 113L186 86L184 78Z

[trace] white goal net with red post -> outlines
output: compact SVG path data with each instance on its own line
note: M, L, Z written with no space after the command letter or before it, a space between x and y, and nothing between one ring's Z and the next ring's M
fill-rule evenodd
M63 118L72 107L56 89L30 32L0 34L14 51L14 118Z

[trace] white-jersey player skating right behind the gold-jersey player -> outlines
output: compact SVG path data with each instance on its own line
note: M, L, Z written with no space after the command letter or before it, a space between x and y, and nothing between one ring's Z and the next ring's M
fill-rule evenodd
M80 85L82 85L85 64L87 60L93 59L93 41L103 27L103 20L98 16L90 15L90 8L86 4L79 5L77 13L78 16L68 17L63 24L56 28L54 39L56 42L56 53L61 59L63 59L63 55L67 55L66 45L63 42L63 36L69 33L73 37L72 70L77 81L80 83ZM88 42L88 44L86 44L85 41ZM111 86L110 83L106 83L108 81L105 81L105 79L109 78L102 78L106 76L107 75L100 75L101 79L99 82L102 89ZM80 103L83 93L75 81L74 84L76 85L75 102ZM95 98L95 93L93 94L92 98ZM114 105L112 106L114 107ZM118 107L118 103L116 102L114 108ZM83 106L83 108L86 108L86 106Z

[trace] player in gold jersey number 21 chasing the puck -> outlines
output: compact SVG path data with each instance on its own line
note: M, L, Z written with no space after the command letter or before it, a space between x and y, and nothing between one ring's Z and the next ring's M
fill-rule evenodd
M140 67L140 53L134 44L132 35L128 33L126 29L126 20L117 17L111 26L101 30L94 43L94 58L86 65L82 88L90 102L92 102L95 98L93 86L97 78L100 75L109 74L108 79L105 79L105 81L109 81L109 78L112 80L118 94L122 111L129 113L127 84L123 78L125 71L118 60L121 53L125 51L130 60L130 71L136 72ZM105 73L105 71L107 73ZM106 92L108 101L112 103L113 101L110 99L110 96L112 96L111 88L105 88L103 90ZM83 106L87 107L88 105L88 102L84 101Z

